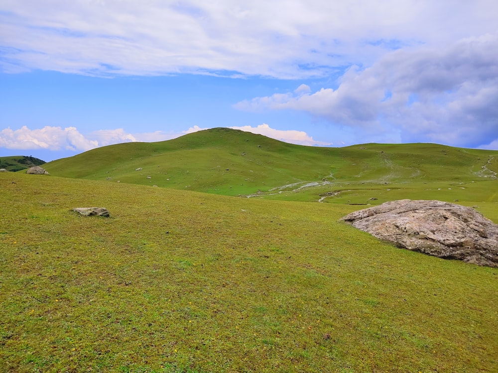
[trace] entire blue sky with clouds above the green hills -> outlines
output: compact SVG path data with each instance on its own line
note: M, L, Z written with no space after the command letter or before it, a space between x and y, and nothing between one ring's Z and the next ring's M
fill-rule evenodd
M498 1L0 0L0 156L213 127L498 149Z

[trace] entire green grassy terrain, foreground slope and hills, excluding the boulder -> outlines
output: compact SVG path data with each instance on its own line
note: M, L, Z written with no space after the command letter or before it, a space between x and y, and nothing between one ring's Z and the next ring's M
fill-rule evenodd
M215 128L44 168L0 174L0 372L498 371L496 269L338 221L423 198L498 222L497 151Z

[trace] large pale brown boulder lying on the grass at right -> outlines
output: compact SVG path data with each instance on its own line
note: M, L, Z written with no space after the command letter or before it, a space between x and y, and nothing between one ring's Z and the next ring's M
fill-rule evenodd
M498 267L498 225L470 207L402 199L355 211L342 220L401 248Z

